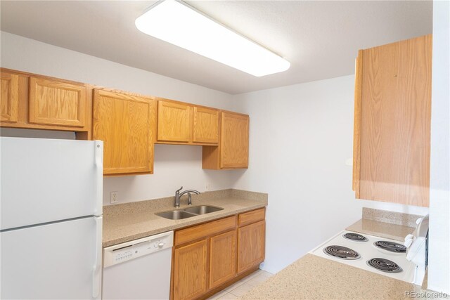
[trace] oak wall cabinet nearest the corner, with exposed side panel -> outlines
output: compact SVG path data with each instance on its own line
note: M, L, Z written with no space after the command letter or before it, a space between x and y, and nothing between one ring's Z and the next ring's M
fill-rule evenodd
M248 115L221 112L219 146L203 146L203 169L248 168L249 123Z

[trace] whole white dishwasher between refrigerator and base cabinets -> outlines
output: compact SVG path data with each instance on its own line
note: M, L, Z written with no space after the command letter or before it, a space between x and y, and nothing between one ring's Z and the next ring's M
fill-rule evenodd
M169 299L174 232L104 249L103 299Z

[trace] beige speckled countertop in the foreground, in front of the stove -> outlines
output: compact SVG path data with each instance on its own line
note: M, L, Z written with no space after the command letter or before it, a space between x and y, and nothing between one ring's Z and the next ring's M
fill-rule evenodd
M408 282L306 254L242 299L404 299Z

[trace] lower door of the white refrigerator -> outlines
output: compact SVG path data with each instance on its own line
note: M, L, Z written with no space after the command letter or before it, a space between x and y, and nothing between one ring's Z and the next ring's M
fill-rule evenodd
M101 217L0 233L1 299L101 299Z

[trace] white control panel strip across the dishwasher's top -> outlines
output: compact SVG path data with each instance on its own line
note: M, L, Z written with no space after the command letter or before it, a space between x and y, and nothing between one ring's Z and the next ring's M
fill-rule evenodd
M172 248L174 244L174 232L160 233L143 237L139 240L116 244L103 249L103 268L114 266L117 263L136 259L140 256L152 254L164 249Z

